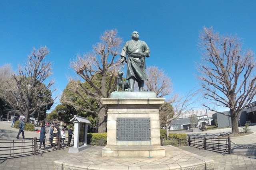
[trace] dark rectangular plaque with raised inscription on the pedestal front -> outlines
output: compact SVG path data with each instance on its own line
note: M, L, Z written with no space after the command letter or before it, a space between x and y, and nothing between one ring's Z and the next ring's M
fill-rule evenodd
M116 119L117 141L150 141L150 118Z

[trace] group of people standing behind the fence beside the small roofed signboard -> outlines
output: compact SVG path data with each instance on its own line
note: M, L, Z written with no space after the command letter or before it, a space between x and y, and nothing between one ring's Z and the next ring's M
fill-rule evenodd
M41 146L43 144L44 149L45 147L45 139L46 139L46 135L45 135L45 128L46 125L43 124L41 126L41 131L40 131L40 145L39 145L39 149L42 149ZM73 127L71 126L70 129L68 129L68 146L70 146L70 142L72 139L72 135L73 134ZM50 128L49 128L49 141L51 144L51 148L56 149L56 145L58 144L58 139L60 138L60 142L62 143L62 145L64 145L64 141L66 138L66 133L65 133L65 129L62 128L60 129L60 125L59 124L50 124Z

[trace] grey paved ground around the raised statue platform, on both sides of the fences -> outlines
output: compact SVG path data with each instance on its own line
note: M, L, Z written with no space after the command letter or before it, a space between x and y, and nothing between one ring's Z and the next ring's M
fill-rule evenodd
M11 123L0 122L0 139L15 139L18 130L10 127ZM251 126L251 131L256 132L256 126ZM206 132L186 132L189 135L216 137L216 135L226 134L231 132L231 128L227 129L216 129ZM47 131L46 131L47 133ZM180 132L183 133L183 132ZM48 134L48 133L47 133ZM46 136L47 136L46 134ZM39 137L39 133L25 131L25 138ZM233 143L244 147L255 147L256 146L256 133L248 136L231 138ZM90 150L94 150L91 147ZM102 147L101 147L102 148ZM194 147L179 147L180 149L188 152L198 154L200 156L214 160L214 169L216 170L254 170L256 169L256 148L242 148L232 144L232 154L223 154L213 152L204 149L198 149ZM86 152L86 150L82 151ZM7 160L0 160L0 170L51 170L53 169L53 162L55 160L61 160L69 158L72 154L68 154L68 148L64 150L55 150L46 152L42 156L39 154L34 156L24 156L20 158L12 158ZM111 162L110 162L111 163Z

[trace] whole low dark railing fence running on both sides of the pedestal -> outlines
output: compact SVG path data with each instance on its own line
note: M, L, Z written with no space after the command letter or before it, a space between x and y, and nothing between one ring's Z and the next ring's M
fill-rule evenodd
M58 141L51 145L50 140L46 139L45 148L42 144L40 148L40 141L36 137L34 139L0 139L0 160L20 157L26 155L36 155L43 152L49 152L57 149L64 149L73 146L74 137L71 143L68 143L67 138L58 138ZM172 138L160 139L161 145L172 145L174 147L191 146L207 150L215 150L219 152L231 152L230 137L228 138L206 138L206 137L186 137L186 138ZM91 146L106 146L107 140L100 139L87 139L87 144Z

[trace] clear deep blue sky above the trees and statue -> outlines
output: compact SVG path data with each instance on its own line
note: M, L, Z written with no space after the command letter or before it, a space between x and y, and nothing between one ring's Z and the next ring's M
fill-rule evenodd
M32 47L47 46L61 95L76 53L90 51L106 29L118 29L124 42L136 30L151 50L147 66L165 70L174 91L184 94L198 85L202 27L237 33L244 48L256 51L255 8L254 0L0 0L0 66L17 70Z

